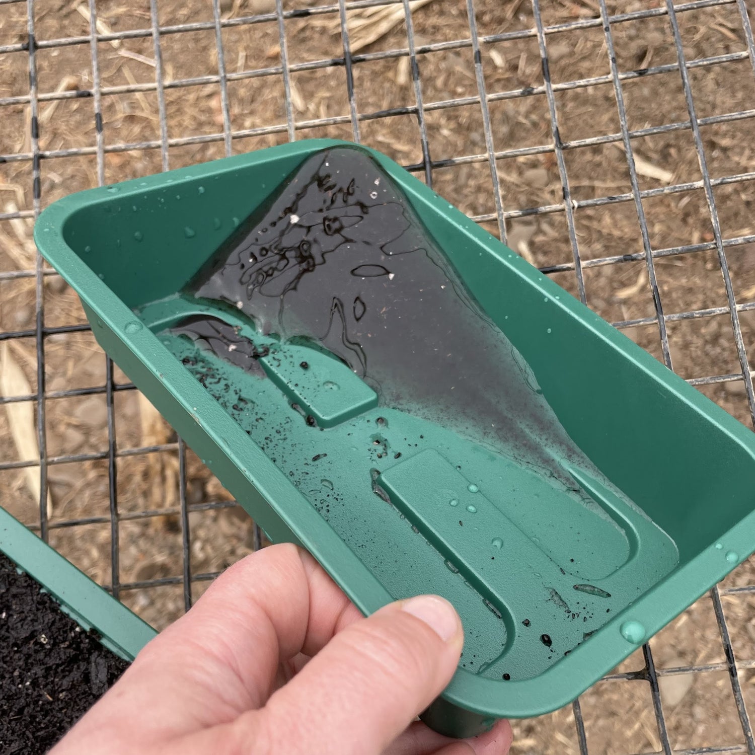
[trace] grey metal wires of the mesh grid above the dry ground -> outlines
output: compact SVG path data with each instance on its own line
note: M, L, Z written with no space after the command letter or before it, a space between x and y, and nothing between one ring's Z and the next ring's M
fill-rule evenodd
M411 116L416 119L419 129L422 160L417 164L405 167L414 172L424 174L424 180L431 185L433 171L439 168L449 168L459 165L473 165L486 163L489 166L492 178L493 200L495 211L489 214L479 214L474 217L479 222L492 221L498 224L501 238L506 236L506 223L509 220L532 217L536 215L563 214L568 228L569 244L572 249L572 260L565 263L552 264L543 267L544 273L575 273L578 294L586 300L584 288L584 270L595 267L621 266L627 263L643 262L649 276L652 292L653 310L652 316L626 319L615 322L618 328L636 328L643 325L655 325L658 328L661 352L664 362L671 367L671 351L667 334L667 323L684 320L710 318L713 316L729 316L732 323L732 340L735 344L738 356L740 372L726 374L704 375L689 379L689 383L695 386L708 386L726 384L736 381L744 381L747 402L750 415L755 424L755 392L753 392L752 373L750 371L747 353L741 334L739 317L742 313L755 310L755 300L738 303L732 287L729 273L729 262L726 252L732 248L755 243L755 234L741 234L729 238L724 237L720 227L716 198L713 190L719 186L729 186L747 183L755 180L755 171L741 174L729 174L723 177L713 178L707 169L706 156L701 138L701 127L720 125L755 118L755 103L750 109L735 112L716 113L713 116L698 118L692 87L689 82L689 71L692 69L710 69L736 61L750 60L750 66L755 75L755 42L747 16L745 0L697 0L673 5L672 0L665 0L665 4L657 8L646 8L639 11L631 11L623 14L609 15L606 0L597 0L598 11L595 17L579 18L565 23L547 25L543 23L541 7L538 0L532 0L532 16L534 24L532 28L518 29L512 32L504 32L492 35L480 35L477 27L474 0L466 0L467 16L469 20L470 36L468 39L457 39L448 42L433 42L417 44L414 38L411 7L408 0L357 0L346 2L337 0L334 5L322 5L305 10L284 10L282 0L276 0L274 13L255 14L239 18L223 18L220 13L219 0L212 0L213 16L211 21L197 23L181 23L161 26L158 15L158 0L149 2L149 27L143 29L129 29L123 32L102 34L97 31L97 8L95 0L88 0L89 10L89 34L81 36L63 36L57 39L35 39L35 0L0 0L0 7L15 5L26 2L27 23L26 40L11 45L0 45L0 55L20 54L26 52L28 58L29 92L28 94L14 95L13 97L0 98L0 118L2 109L9 106L28 106L31 113L31 139L30 149L26 152L18 152L0 156L0 163L29 162L32 173L32 209L20 209L18 211L6 211L0 213L0 221L14 220L16 218L35 218L42 208L42 185L40 181L40 165L43 160L60 159L75 156L95 156L97 160L97 181L104 183L105 158L109 154L128 152L134 149L159 150L162 169L168 170L169 149L176 146L196 145L202 143L223 143L224 152L229 155L232 152L234 140L263 136L267 134L285 134L288 140L294 140L298 131L305 129L348 125L351 128L353 140L360 140L360 125L374 120L387 119L393 116ZM401 5L405 14L405 27L407 31L407 46L387 51L354 54L350 48L348 16L349 11L359 8L370 8L381 5ZM727 54L712 55L697 60L686 60L683 48L678 17L680 14L695 13L704 8L716 8L731 5L738 10L741 18L742 30L747 50ZM322 60L313 60L306 63L290 63L285 38L285 21L293 18L307 16L325 16L338 14L341 26L341 38L343 43L343 57L335 57ZM616 26L637 20L663 18L667 21L670 39L673 39L673 47L676 51L676 62L664 63L644 69L622 71L617 63L614 48L613 32ZM225 63L223 51L223 30L240 26L253 26L257 24L276 24L279 46L280 65L269 66L263 69L249 69L237 72L229 72ZM584 31L587 29L602 29L609 54L610 71L607 75L593 76L586 79L578 79L569 82L552 82L550 78L550 64L548 59L548 42L554 35L569 32ZM217 48L217 75L204 75L191 79L178 79L171 82L165 81L165 72L162 63L161 39L168 35L180 35L184 32L211 31L214 32L215 45ZM97 56L97 45L102 42L124 41L127 39L151 39L153 42L153 54L155 60L154 82L144 82L134 85L102 86L100 82L100 66ZM486 45L499 42L513 42L515 40L531 39L538 45L541 56L543 84L517 88L509 91L488 91L485 76L482 69L482 50ZM88 45L91 54L92 86L89 90L82 91L55 91L40 92L37 84L37 52L39 50L54 50L75 45ZM454 51L470 49L474 60L474 73L476 82L476 94L468 97L456 97L447 100L433 102L424 101L421 66L418 56L438 51ZM391 107L372 112L359 112L357 106L357 92L355 91L353 69L362 63L370 63L380 60L396 60L408 57L411 69L414 104L408 106ZM316 71L320 69L337 69L343 67L346 72L346 87L349 103L349 112L344 116L334 116L320 119L297 120L294 117L294 109L291 103L291 73ZM655 75L676 74L680 76L685 95L688 119L667 123L663 125L649 126L641 129L630 129L627 112L624 103L623 86L626 82ZM266 124L256 128L242 130L233 128L231 117L228 82L238 82L247 79L259 79L265 77L282 77L285 91L285 123ZM180 89L196 85L217 85L220 91L220 109L222 115L222 131L214 134L202 134L191 137L168 137L168 125L165 106L165 91ZM563 141L559 132L558 109L555 95L559 92L575 91L596 85L611 85L615 94L620 131L614 134L602 134L578 140ZM142 92L154 92L156 94L157 109L159 116L159 139L146 140L139 143L116 143L106 144L103 137L102 105L107 97L120 94L135 94ZM550 143L527 146L516 149L495 150L495 140L491 123L489 106L492 103L501 103L508 100L519 100L526 97L544 95L547 100L548 118L552 141ZM65 149L40 149L39 147L39 103L48 103L62 100L71 100L82 97L91 99L93 105L93 118L96 127L96 141L94 146L83 148ZM430 138L427 131L425 116L427 112L444 111L448 109L479 106L482 114L482 126L485 137L485 153L452 156L441 160L433 160L430 150ZM642 190L639 187L635 159L633 156L633 142L643 137L652 137L659 134L668 134L675 131L686 131L692 134L695 150L701 168L701 180L686 183L677 183L670 186L661 186L653 189ZM565 154L572 150L584 149L590 146L599 146L615 143L623 146L627 158L627 168L630 177L630 192L618 195L598 196L593 199L573 199L569 190L568 166ZM562 202L550 205L541 205L529 208L504 208L501 199L501 164L506 160L516 159L523 156L552 155L559 171L559 179L562 184ZM701 190L707 202L707 211L713 228L713 239L707 242L677 245L668 248L653 248L649 235L648 223L643 208L643 200L661 196L673 196ZM632 254L597 257L584 260L581 255L578 235L575 229L575 213L586 208L600 208L609 205L618 205L626 202L633 203L636 211L637 222L642 236L642 252ZM706 251L715 251L721 274L726 288L726 306L708 307L705 309L685 310L682 312L667 312L661 301L661 291L655 276L655 260L667 257L683 257L687 254L698 254ZM186 447L183 440L178 438L176 442L161 445L149 445L139 448L118 448L116 442L115 408L113 399L116 393L134 390L131 383L117 384L113 379L113 365L106 359L105 382L103 385L94 387L68 387L66 390L48 391L45 387L45 339L57 334L73 334L90 331L88 325L64 325L48 327L45 325L45 278L54 275L54 271L47 270L43 266L42 259L37 257L33 270L13 270L0 273L0 282L22 279L34 279L35 282L35 325L32 328L16 331L0 332L0 342L22 338L34 338L37 356L37 386L35 393L25 396L6 396L0 398L0 404L12 402L33 401L37 411L37 434L39 439L40 458L37 461L0 461L0 471L21 470L27 467L39 467L42 494L39 500L39 525L32 529L39 531L41 537L48 539L52 529L69 529L82 525L101 524L109 525L111 535L111 572L109 584L106 588L115 596L123 596L133 590L163 585L181 585L183 588L183 604L188 610L192 604L191 586L195 582L205 582L213 579L215 572L192 573L192 537L190 532L190 513L200 511L222 510L234 506L233 501L209 501L202 504L190 504L187 501L186 492ZM49 456L45 438L45 411L48 401L67 399L75 396L103 395L107 407L107 448L104 451L80 453L77 455ZM179 464L179 501L177 507L165 507L137 512L120 511L118 506L118 480L117 461L119 458L128 458L146 454L168 453L176 454ZM46 491L48 468L58 464L67 464L74 461L107 461L109 473L109 510L107 516L79 516L71 519L60 519L48 522L46 508ZM121 522L153 519L160 516L178 515L180 517L181 542L182 542L182 566L180 576L165 577L152 580L122 582L119 574L119 525ZM262 535L255 525L254 547L260 547ZM724 663L710 663L678 666L672 668L656 668L649 646L644 646L643 654L645 665L642 670L626 673L612 673L606 676L605 681L618 681L626 683L646 683L649 686L652 698L655 720L658 728L658 741L661 744L661 752L671 755L672 750L667 733L667 720L664 715L658 680L664 676L678 676L683 674L706 673L713 671L726 671L732 686L732 695L741 724L743 744L722 744L720 746L692 748L686 750L674 750L676 755L707 755L707 753L747 753L755 755L755 743L750 726L750 719L741 690L741 672L755 669L755 657L736 658L729 636L729 626L721 604L722 596L749 596L755 595L755 586L714 588L710 591L710 599L713 602L713 612L720 630L720 639L726 657ZM581 755L587 755L589 744L589 732L585 730L584 719L581 712L580 701L575 701L572 707L575 719L575 737Z

